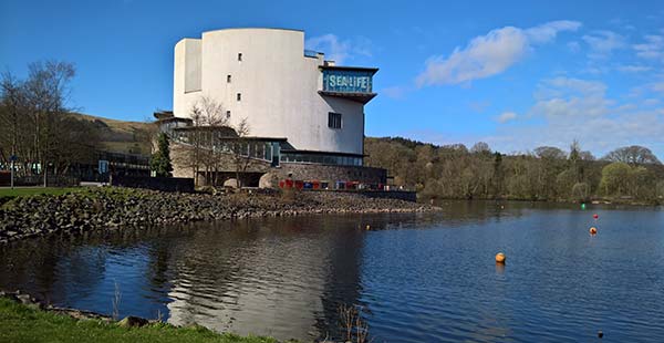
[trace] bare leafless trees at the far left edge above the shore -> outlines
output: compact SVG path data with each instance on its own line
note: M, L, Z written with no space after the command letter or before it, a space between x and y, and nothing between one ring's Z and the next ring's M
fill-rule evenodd
M98 145L93 125L71 113L66 103L75 72L66 62L35 62L25 80L11 73L0 82L0 156L18 156L19 174L68 174L91 164Z

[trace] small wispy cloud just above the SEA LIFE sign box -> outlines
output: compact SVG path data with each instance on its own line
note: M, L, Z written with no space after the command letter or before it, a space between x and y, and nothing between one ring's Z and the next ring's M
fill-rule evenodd
M366 38L341 40L332 33L312 37L304 41L304 46L326 53L328 60L343 64L346 60L363 55L371 58L371 41Z

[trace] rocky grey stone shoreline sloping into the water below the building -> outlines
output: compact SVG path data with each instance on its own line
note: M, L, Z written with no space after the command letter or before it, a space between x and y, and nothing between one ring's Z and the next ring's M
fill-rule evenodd
M163 226L310 214L425 212L438 208L362 194L301 191L177 194L90 188L59 196L19 197L0 208L0 245L56 232Z

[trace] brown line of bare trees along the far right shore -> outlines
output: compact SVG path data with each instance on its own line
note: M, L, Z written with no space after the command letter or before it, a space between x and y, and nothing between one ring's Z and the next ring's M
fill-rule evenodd
M646 147L618 148L602 158L541 146L523 154L491 152L486 143L437 146L401 137L365 138L365 164L424 197L664 202L664 166Z

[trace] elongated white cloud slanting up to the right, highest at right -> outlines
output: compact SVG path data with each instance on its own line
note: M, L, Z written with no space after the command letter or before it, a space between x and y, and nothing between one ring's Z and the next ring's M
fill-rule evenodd
M499 74L519 62L536 44L547 43L561 31L575 31L581 23L552 21L530 29L505 27L476 37L449 56L432 56L421 73L418 86L459 84Z

